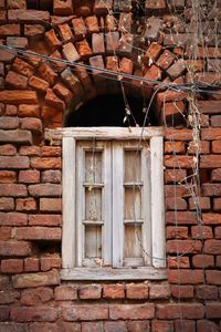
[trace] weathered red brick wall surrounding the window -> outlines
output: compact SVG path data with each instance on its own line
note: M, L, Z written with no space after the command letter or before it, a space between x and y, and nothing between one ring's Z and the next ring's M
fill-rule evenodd
M39 1L33 10L29 1L0 0L0 42L162 82L157 92L147 82L140 92L133 80L125 90L145 91L148 98L155 93L158 123L166 127L168 280L61 282L61 142L44 139L44 128L62 126L70 102L75 107L108 93L113 83L97 72L0 50L0 331L219 331L220 89L194 93L193 104L192 92L165 84L188 83L193 75L202 87L219 85L220 49L208 40L207 54L199 45L192 56L191 1L186 8L173 1L185 27L164 0L146 1L138 27L131 1L106 1L119 12L115 17L99 1L76 2Z

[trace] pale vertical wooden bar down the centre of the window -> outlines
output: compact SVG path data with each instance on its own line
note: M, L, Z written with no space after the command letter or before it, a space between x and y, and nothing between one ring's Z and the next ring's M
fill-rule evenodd
M124 151L122 142L113 142L113 268L124 259Z

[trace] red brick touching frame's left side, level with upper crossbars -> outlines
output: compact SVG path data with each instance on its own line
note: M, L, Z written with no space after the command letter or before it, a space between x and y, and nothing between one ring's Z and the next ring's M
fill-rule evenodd
M61 196L61 186L52 184L41 184L29 186L29 193L34 197Z

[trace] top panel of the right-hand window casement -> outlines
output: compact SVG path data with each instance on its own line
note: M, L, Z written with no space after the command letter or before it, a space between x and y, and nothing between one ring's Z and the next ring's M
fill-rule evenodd
M141 180L140 151L125 151L124 180L125 183Z

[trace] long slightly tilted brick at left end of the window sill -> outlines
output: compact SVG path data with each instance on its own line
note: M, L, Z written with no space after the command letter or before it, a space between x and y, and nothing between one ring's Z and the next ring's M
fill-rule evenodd
M39 273L23 273L12 277L14 288L33 288L60 284L60 273L56 270Z

